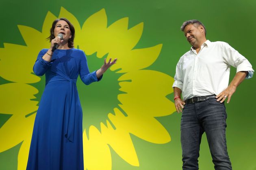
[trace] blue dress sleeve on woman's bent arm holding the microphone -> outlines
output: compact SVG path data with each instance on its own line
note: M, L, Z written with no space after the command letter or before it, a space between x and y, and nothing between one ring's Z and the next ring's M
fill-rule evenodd
M37 76L42 76L43 74L46 73L47 69L52 65L52 62L46 62L43 60L43 55L46 53L47 49L42 49L38 56L37 60L34 64L33 71Z

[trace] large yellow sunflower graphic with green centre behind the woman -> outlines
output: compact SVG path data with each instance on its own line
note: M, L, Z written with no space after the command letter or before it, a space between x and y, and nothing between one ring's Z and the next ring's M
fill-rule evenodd
M156 61L162 45L135 48L143 32L143 23L128 29L128 17L125 17L108 26L104 9L91 15L82 26L63 7L60 17L69 19L76 28L75 47L85 51L89 67L94 60L101 64L99 61L104 57L107 60L118 58L117 64L106 72L106 79L101 84L85 87L80 86L78 81L84 114L85 170L111 170L110 147L131 166L139 166L130 134L155 144L171 140L165 127L155 117L170 115L175 111L174 103L166 97L173 92L171 85L174 80L162 72L147 70ZM0 85L0 113L11 115L0 128L0 136L4 136L4 140L0 140L0 152L22 142L18 153L18 170L26 169L39 102L36 96L40 98L43 90L38 83L44 83L41 80L44 78L33 74L32 68L38 52L49 47L46 37L56 18L48 12L40 31L18 26L26 46L4 43L4 48L0 48L0 76L9 81ZM98 108L95 108L93 103L97 96L88 94L91 91L104 94L108 87L113 89L108 94L113 100L102 98L101 102L105 105L98 104ZM91 105L86 104L87 98L92 100ZM104 116L99 118L97 114Z

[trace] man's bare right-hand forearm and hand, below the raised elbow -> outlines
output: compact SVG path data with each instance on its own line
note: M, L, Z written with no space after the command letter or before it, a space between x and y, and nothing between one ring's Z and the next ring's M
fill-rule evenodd
M231 96L234 94L234 92L236 91L236 87L242 83L242 81L245 79L245 77L247 76L248 72L247 71L240 71L237 72L235 77L233 78L233 80L231 81L230 85L228 85L228 87L222 91L220 94L218 94L216 96L217 98L217 102L224 102L224 100L226 98L228 98L228 102L230 101Z

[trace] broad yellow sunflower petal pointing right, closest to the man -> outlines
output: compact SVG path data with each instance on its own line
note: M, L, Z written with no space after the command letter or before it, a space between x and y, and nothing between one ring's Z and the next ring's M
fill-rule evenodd
M174 113L174 103L165 97L173 92L174 79L169 75L138 70L123 74L118 80L121 81L119 90L125 94L119 94L117 98L127 115L139 113L146 117L160 117Z

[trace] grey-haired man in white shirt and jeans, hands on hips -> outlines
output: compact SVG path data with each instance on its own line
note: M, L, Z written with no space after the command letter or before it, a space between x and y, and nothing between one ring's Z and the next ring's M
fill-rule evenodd
M181 30L192 45L176 66L173 84L176 110L182 112L182 168L198 169L201 138L206 132L215 169L232 170L224 100L230 102L236 87L243 79L251 78L254 70L228 43L206 40L206 29L200 21L185 21ZM230 66L236 67L236 75L228 85Z

